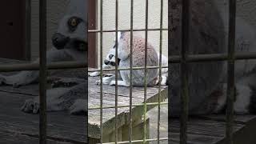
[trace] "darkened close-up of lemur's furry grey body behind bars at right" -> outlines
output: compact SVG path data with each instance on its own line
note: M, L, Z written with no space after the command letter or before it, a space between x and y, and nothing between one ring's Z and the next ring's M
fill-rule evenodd
M225 7L218 7L215 1L196 0L191 2L190 45L188 54L225 54L227 53L228 13ZM179 55L181 48L180 3L172 6L169 52ZM226 9L228 10L228 9ZM256 51L255 28L237 16L235 50L237 54ZM191 62L188 64L189 114L220 113L226 106L227 62ZM169 106L170 115L181 114L180 105L180 65L169 66ZM236 98L234 112L246 114L256 112L256 75L255 60L235 62Z

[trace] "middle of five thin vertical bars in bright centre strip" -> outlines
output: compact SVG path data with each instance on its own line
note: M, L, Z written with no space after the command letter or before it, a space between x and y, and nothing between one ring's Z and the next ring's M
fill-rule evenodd
M130 106L129 106L129 143L132 143L132 105L133 105L133 33L134 33L134 0L130 1Z

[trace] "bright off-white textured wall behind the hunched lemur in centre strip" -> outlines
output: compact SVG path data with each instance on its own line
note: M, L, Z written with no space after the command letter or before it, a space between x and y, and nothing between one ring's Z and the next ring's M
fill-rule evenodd
M163 6L163 28L168 26L168 1L164 0ZM130 0L118 1L118 29L130 29ZM146 22L146 1L134 0L134 29L145 29ZM98 2L98 30L100 26L100 2ZM149 22L148 28L160 28L160 0L149 1ZM103 1L103 30L115 29L115 0ZM134 32L134 34L140 34L145 36L144 32ZM167 31L163 31L162 39L162 52L167 55ZM159 31L149 31L148 42L150 42L156 50L159 50ZM99 34L98 34L98 64L99 64ZM106 54L110 47L114 45L114 33L103 33L103 59L106 58ZM99 65L98 65L99 66Z

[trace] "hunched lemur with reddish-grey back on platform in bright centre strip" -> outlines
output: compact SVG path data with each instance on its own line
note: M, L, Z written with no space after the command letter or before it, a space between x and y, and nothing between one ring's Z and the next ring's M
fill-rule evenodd
M133 38L133 50L132 50L132 63L133 67L144 67L145 66L145 39L138 36ZM111 65L111 62L116 62L115 50L118 49L118 67L129 68L130 67L130 33L119 33L118 34L118 46L114 46L110 50L106 58L105 65ZM158 53L154 50L154 47L147 43L147 66L158 66ZM111 58L110 58L111 57ZM107 59L113 61L106 62ZM114 66L112 66L114 67ZM144 86L145 70L133 70L132 82L130 82L130 70L118 71L118 86ZM106 80L108 79L108 80ZM103 80L104 84L115 85L114 75L106 77ZM158 69L148 69L146 74L146 85L154 86L158 81Z

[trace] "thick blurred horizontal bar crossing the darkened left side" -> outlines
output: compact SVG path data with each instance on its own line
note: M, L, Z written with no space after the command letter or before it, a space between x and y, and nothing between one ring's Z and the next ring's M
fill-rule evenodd
M86 68L85 62L50 62L47 64L48 70ZM21 70L39 70L38 63L22 63L22 64L4 64L0 65L1 72L21 71Z

